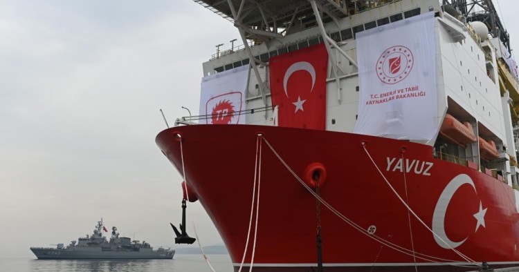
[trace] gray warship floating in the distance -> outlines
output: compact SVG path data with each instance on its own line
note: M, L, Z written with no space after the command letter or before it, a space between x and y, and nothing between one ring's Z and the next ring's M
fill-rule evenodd
M68 246L57 244L55 248L31 247L30 250L38 259L172 259L175 253L162 246L154 250L145 241L140 243L129 237L119 237L115 226L108 241L102 235L103 230L107 231L101 219L93 234L78 238L77 244L72 241Z

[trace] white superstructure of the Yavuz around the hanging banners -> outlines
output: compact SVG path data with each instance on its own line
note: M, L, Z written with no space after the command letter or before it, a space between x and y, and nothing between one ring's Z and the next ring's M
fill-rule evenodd
M277 109L270 98L269 59L325 43L329 55L326 130L340 132L355 132L358 119L357 33L434 12L437 128L448 113L460 122L471 124L473 133L481 138L463 146L444 141L439 133L439 140L415 142L435 146L437 152L445 155L466 159L473 167L489 168L510 186L517 183L517 135L513 133L513 124L518 120L514 105L519 103L519 88L517 73L513 72L517 68L509 53L508 34L491 1L195 2L235 23L242 41L246 42L235 46L237 41L233 41L231 48L217 46L217 53L203 64L204 77L248 67L246 108L241 109L246 124L277 125ZM495 30L489 31L482 20ZM318 27L321 23L324 28ZM255 65L249 67L251 63ZM202 108L201 105L201 115L210 114L203 113ZM491 140L500 159L492 158L489 162L489 157L482 158L480 139Z

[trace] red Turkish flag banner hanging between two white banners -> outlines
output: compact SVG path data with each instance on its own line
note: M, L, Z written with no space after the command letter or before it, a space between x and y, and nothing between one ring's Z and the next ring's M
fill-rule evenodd
M292 128L326 128L328 52L323 43L272 57L273 106L277 124Z

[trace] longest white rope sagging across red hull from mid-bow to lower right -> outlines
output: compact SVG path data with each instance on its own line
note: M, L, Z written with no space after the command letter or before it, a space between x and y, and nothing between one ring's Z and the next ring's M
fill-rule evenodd
M331 211L332 213L334 213L335 215L337 215L341 220L345 221L347 224L349 224L350 226L352 226L354 229L356 229L356 231L359 231L361 232L363 235L366 235L367 237L370 237L370 239L372 240L375 240L376 242L379 242L385 246L388 246L390 249L394 249L395 251L399 251L400 253L403 253L403 254L406 254L406 255L412 255L410 252L409 249L406 249L402 246L399 246L398 244L394 244L390 241L387 241L387 240L384 240L383 238L379 237L379 236L376 236L374 234L371 234L371 233L367 233L367 231L365 229L363 229L361 226L359 226L358 224L356 224L355 222L353 222L352 220L349 220L349 218L345 217L345 215L343 215L342 213L340 213L339 211L337 211L333 206L331 206L330 204L328 204L328 202L326 202L325 200L323 200L319 195L317 195L309 186L307 186L307 184L305 184L302 179L296 175L294 173L294 171L292 170L292 168L290 168L290 166L288 164L286 164L286 162L284 162L284 160L282 159L282 157L274 150L274 148L271 146L271 144L267 141L267 139L265 137L263 137L263 140L265 141L265 143L267 144L268 148L270 148L272 150L272 152L274 153L274 155L277 157L277 159L280 160L280 162L285 166L285 168L293 175L293 177L295 177L295 179L298 180L298 182L305 188L307 189L307 191L309 193L311 193L311 195L313 195L313 197L316 197L318 200L320 200L321 204L323 204L326 208L329 209L329 211ZM450 265L450 266L459 266L459 267L470 267L470 268L473 268L474 266L468 266L468 265L457 265L457 264L450 264L448 262L457 262L455 260L448 260L448 259L444 259L444 258L438 258L438 257L434 257L434 256L430 256L430 255L426 255L426 254L423 254L423 253L419 253L417 252L416 253L418 256L417 258L421 259L421 260L425 260L427 262L435 262L435 263L438 263L438 264L445 264L445 265ZM441 260L441 261L444 261L444 262L438 262L438 261L435 261L435 260ZM479 266L479 264L475 264L476 266Z

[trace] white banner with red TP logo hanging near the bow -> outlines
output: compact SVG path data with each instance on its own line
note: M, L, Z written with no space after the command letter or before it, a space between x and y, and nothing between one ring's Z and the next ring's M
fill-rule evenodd
M245 124L245 89L248 66L202 78L200 115L202 124Z

